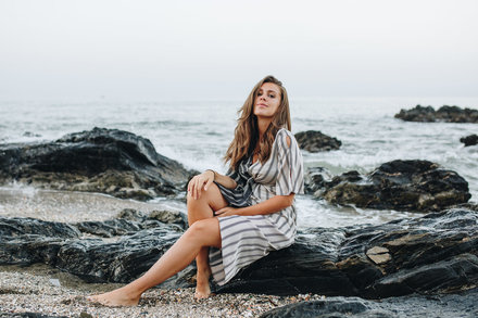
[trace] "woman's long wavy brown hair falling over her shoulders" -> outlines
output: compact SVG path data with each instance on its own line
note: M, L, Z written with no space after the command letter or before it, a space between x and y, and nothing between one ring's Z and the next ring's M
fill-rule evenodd
M264 82L273 82L280 88L280 104L271 125L264 132L263 138L257 140L259 128L257 117L254 115L254 103L257 92ZM252 89L244 104L238 111L238 114L239 119L237 120L238 124L234 131L234 140L227 149L226 155L224 156L224 161L226 163L230 162L229 165L235 170L239 167L241 160L252 155L257 142L260 143L259 160L261 163L265 163L271 156L271 151L277 131L282 127L291 130L289 99L282 82L272 75L261 79L261 81L259 81Z

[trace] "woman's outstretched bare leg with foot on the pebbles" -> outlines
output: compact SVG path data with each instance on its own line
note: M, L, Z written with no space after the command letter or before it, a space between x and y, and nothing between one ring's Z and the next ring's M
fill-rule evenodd
M91 296L108 306L136 306L141 294L188 266L204 246L221 247L217 218L196 221L140 278L109 293Z

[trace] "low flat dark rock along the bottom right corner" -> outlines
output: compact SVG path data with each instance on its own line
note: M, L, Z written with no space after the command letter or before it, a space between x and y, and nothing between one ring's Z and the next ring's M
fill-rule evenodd
M478 289L441 296L411 295L381 301L360 297L328 297L301 302L269 310L261 318L423 318L478 317Z

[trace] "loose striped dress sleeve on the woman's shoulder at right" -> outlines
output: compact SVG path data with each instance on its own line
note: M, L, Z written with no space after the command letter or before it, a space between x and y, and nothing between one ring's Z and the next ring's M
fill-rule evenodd
M287 144L290 137L290 145ZM304 193L304 168L302 154L293 135L282 129L277 133L278 175L276 180L276 194L289 195L290 193Z

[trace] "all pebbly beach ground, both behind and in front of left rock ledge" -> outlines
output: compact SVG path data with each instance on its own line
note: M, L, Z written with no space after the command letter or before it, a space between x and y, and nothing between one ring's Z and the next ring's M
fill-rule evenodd
M39 190L28 187L0 188L0 214L51 221L104 220L123 208L149 212L171 208L171 203L143 203L109 195ZM137 307L110 308L86 301L87 295L122 284L86 283L47 265L0 267L0 317L37 313L59 317L257 317L269 309L322 295L273 296L218 294L196 301L194 289L152 289Z

